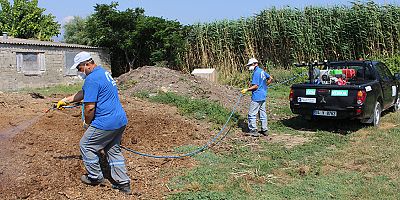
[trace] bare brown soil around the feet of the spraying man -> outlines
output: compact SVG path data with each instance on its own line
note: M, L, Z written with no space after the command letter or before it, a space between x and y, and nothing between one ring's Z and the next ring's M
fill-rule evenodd
M43 114L52 99L0 94L9 105L0 111L0 199L121 199L119 192L80 183L85 173L78 143L83 134L80 110ZM13 99L20 99L14 101ZM35 101L32 103L32 101ZM129 118L123 145L152 154L171 154L175 147L203 144L214 133L177 115L173 107L123 99ZM15 117L17 116L17 117ZM133 199L160 199L176 169L195 165L191 158L166 160L125 152ZM162 174L162 175L160 175Z

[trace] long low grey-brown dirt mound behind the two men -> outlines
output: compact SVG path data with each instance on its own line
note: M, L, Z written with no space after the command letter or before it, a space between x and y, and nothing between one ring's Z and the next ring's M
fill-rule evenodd
M180 71L144 66L121 75L118 78L121 91L125 95L135 92L146 91L150 93L174 92L179 95L193 98L204 98L220 103L225 108L231 109L236 103L240 89L218 85L208 80L195 77L191 74L184 74ZM242 98L238 111L247 115L248 96Z

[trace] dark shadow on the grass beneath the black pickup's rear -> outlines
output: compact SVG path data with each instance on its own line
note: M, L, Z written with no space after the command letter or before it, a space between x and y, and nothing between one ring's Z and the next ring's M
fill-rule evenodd
M359 120L333 120L333 119L312 119L306 120L301 116L282 119L280 122L286 127L299 131L328 131L342 135L351 134L362 128L368 127Z

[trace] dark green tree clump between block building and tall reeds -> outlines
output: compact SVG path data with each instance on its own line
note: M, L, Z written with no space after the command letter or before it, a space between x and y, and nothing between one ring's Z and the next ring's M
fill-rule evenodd
M85 26L90 45L110 50L114 76L158 62L179 63L185 41L179 22L145 16L142 8L119 11L117 6L97 4Z

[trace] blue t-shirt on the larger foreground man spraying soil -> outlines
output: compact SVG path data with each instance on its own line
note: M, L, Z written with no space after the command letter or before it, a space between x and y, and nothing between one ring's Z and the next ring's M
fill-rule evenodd
M83 102L96 103L91 125L102 130L115 130L128 123L111 74L101 66L93 69L83 83Z

